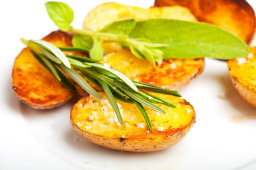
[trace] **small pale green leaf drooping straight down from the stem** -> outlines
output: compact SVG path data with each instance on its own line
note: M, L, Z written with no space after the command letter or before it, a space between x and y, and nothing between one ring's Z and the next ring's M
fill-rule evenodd
M90 57L94 60L100 60L104 55L104 49L101 45L100 37L93 38L93 47L90 51Z

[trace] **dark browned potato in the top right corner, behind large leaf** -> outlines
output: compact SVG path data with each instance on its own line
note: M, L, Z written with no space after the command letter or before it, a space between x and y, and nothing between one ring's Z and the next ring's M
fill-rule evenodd
M246 0L155 0L155 6L187 7L199 21L219 26L248 44L253 38L256 18Z

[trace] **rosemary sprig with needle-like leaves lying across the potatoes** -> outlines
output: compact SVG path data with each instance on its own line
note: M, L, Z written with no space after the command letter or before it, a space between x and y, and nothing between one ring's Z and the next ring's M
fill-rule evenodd
M143 115L149 130L152 130L152 126L144 107L149 107L160 113L165 113L165 111L156 105L158 103L176 107L173 103L145 91L141 91L138 88L180 96L177 91L166 90L145 83L133 82L118 70L111 68L108 64L102 64L86 57L65 55L58 47L43 40L26 41L22 39L22 41L28 46L30 51L32 51L35 58L70 90L75 91L75 88L68 82L68 79L61 71L65 72L87 93L98 99L101 99L101 96L84 77L100 87L110 101L121 125L123 125L123 119L116 99L123 102L134 103Z

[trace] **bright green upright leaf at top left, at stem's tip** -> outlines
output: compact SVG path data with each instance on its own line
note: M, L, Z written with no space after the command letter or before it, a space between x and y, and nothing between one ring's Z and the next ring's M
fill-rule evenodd
M68 31L74 19L74 12L69 5L63 2L49 1L45 3L48 16L61 31Z

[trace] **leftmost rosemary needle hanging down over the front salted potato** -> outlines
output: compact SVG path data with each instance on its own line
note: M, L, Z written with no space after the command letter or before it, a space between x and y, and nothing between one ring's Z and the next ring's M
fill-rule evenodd
M101 79L100 77L98 77L98 82L100 83L100 85L102 86L109 102L111 103L116 115L117 115L117 118L118 118L118 121L121 125L123 125L123 119L122 119L122 116L121 116L121 113L120 113L120 110L118 108L118 103L116 102L113 94L111 93L108 85L106 84L106 82L104 82L103 79Z

